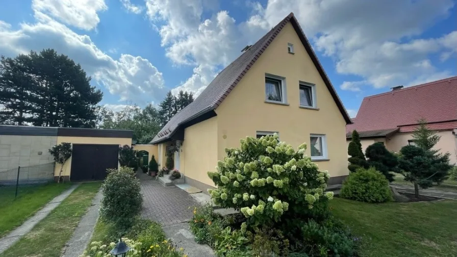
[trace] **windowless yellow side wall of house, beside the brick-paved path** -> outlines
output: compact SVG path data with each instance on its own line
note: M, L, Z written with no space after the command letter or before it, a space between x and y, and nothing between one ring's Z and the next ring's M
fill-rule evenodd
M213 117L187 127L180 153L180 171L186 178L210 186L214 183L207 172L214 171L217 165L217 120Z

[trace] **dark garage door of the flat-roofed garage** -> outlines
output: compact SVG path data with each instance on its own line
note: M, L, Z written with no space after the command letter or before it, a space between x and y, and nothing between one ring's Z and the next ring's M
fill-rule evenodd
M119 145L73 144L71 181L98 181L118 166Z

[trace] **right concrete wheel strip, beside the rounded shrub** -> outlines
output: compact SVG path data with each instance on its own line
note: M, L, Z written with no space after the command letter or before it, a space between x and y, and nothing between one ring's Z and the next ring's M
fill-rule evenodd
M74 230L73 236L65 244L65 249L63 250L63 257L78 257L84 252L83 245L86 246L89 244L92 234L94 232L95 224L98 219L98 209L100 207L101 201L101 190L95 195L92 200L92 205L81 219L80 223Z

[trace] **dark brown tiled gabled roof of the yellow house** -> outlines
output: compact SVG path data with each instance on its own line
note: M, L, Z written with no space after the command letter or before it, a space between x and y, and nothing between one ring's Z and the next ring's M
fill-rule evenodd
M275 25L275 27L273 27L267 34L259 39L259 41L249 47L249 49L247 49L240 57L225 67L225 69L223 69L216 76L216 78L208 85L208 87L203 92L201 92L201 94L190 105L188 105L186 108L173 116L173 118L171 118L171 120L162 128L159 134L157 134L150 143L157 144L163 141L167 141L167 139L170 138L181 125L216 109L222 103L225 97L227 97L227 95L235 88L238 82L240 82L250 67L257 61L257 59L259 59L262 53L265 52L267 47L281 32L284 26L289 22L293 25L295 32L297 33L303 46L306 48L308 54L313 60L314 65L319 71L325 86L332 94L338 109L346 120L346 123L351 123L351 119L349 118L346 109L344 109L344 106L338 97L335 88L328 79L327 74L317 59L317 56L314 53L310 42L301 30L301 27L298 24L294 14L290 13L280 23Z

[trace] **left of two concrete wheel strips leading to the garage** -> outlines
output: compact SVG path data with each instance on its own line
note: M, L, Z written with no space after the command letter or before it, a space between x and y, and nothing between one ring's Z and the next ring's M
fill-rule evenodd
M29 233L32 228L44 219L49 212L53 211L65 198L67 198L77 187L77 185L72 185L65 192L59 196L54 197L50 200L44 208L39 210L34 216L26 220L22 225L14 229L10 234L6 235L4 238L0 239L0 254L16 243L23 235Z

